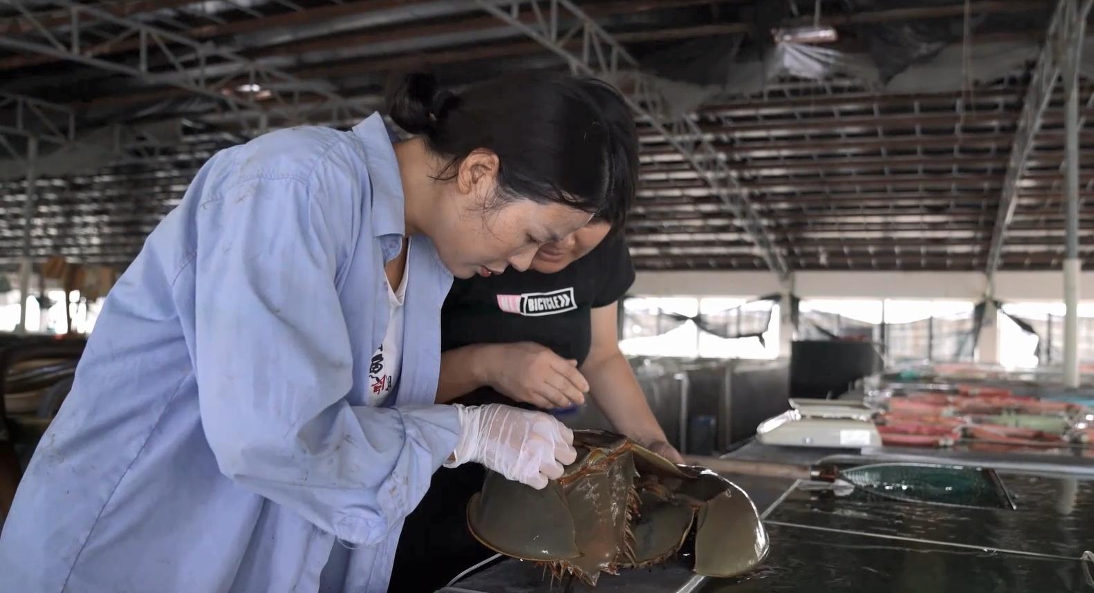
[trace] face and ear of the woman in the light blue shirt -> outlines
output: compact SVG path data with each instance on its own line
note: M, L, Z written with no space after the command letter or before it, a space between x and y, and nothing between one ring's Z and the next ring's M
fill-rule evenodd
M592 214L561 204L512 199L493 202L497 156L473 153L456 178L444 184L431 239L444 265L457 278L524 271L537 251L583 228ZM492 161L491 161L492 158Z

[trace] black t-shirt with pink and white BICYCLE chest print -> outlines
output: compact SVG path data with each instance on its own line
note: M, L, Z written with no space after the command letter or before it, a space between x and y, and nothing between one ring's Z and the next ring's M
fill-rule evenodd
M441 350L534 341L581 364L592 341L591 310L618 301L633 281L622 234L556 274L510 269L456 279L441 312Z

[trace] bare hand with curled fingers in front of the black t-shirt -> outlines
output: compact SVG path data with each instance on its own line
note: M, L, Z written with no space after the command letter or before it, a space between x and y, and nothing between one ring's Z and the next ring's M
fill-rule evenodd
M485 356L487 382L507 397L542 409L585 403L589 382L575 360L531 341L493 345Z

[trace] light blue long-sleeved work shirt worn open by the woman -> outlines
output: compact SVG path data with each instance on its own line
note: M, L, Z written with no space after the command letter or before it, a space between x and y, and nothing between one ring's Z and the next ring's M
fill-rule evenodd
M379 115L210 159L103 305L0 537L0 591L386 590L459 433L433 405L452 275L420 235L401 377L364 405L404 232Z

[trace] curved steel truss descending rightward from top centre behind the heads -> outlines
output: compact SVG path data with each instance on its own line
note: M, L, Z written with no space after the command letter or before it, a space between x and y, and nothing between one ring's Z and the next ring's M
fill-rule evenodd
M780 277L790 272L747 191L695 120L671 115L653 80L639 71L638 60L595 21L569 0L476 0L476 3L565 59L573 71L616 83L631 109L648 118L741 221L756 246L756 255L768 268ZM526 21L527 14L533 15L533 23ZM573 24L563 27L560 22ZM580 51L568 48L571 40L580 42Z

